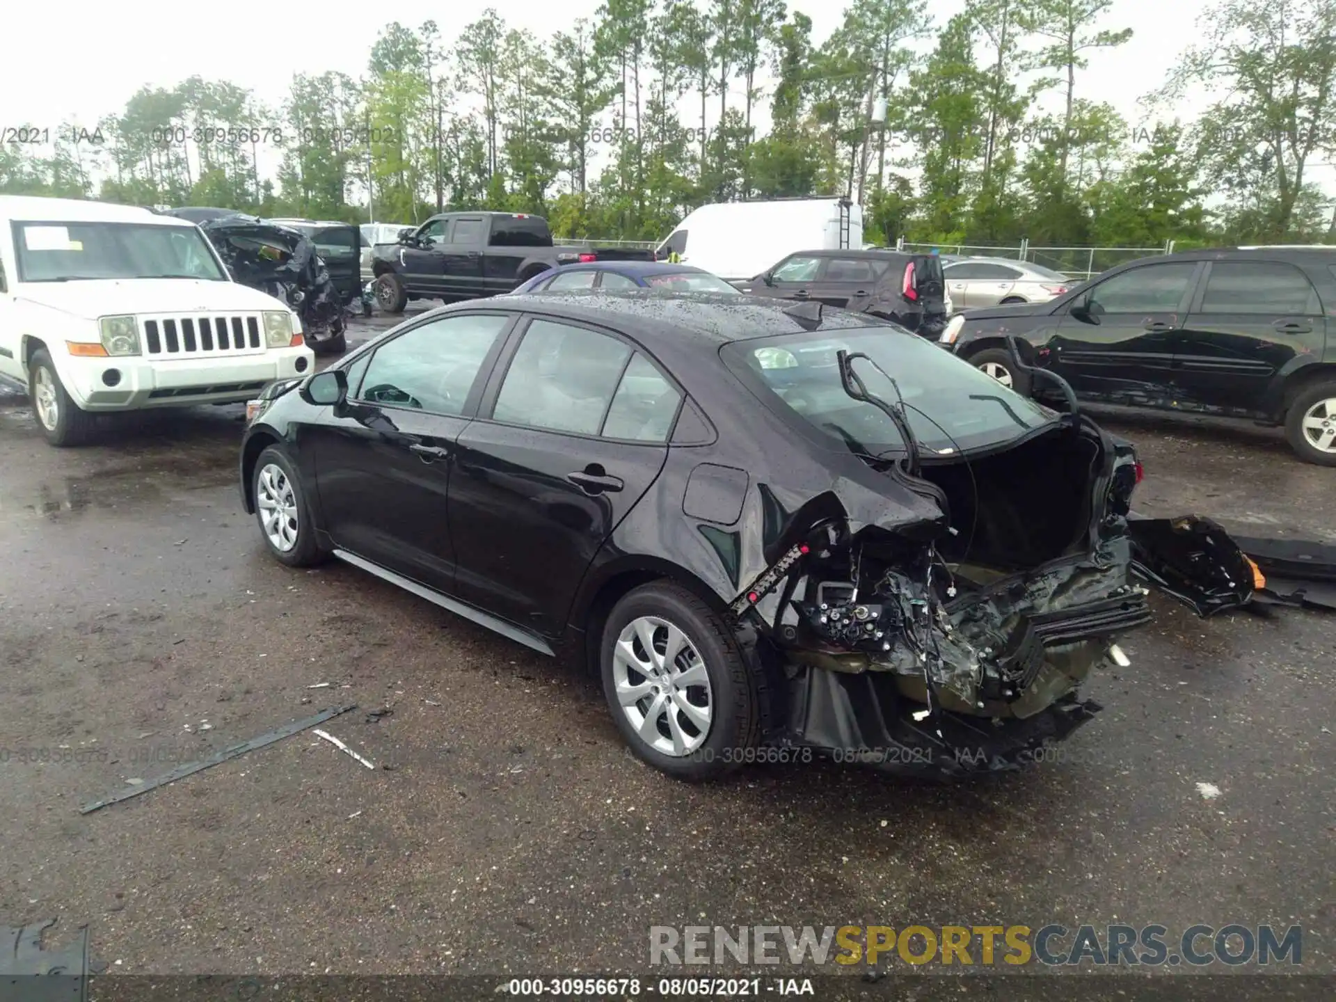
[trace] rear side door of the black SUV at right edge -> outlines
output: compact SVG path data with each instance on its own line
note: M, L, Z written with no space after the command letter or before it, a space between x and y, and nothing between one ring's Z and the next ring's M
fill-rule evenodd
M1216 261L1174 347L1184 402L1269 410L1273 379L1299 355L1323 357L1328 321L1308 277L1284 261Z

